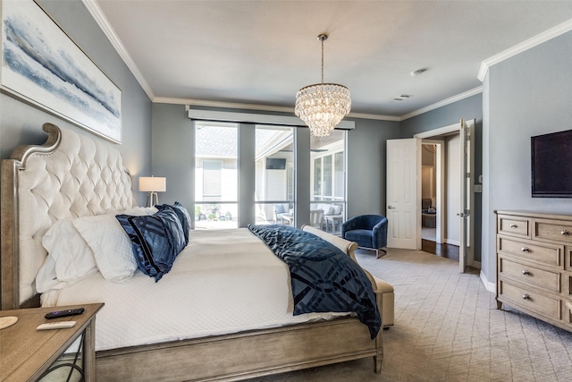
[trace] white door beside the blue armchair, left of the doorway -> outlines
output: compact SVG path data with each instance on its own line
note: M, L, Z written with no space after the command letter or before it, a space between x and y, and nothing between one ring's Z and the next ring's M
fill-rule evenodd
M387 140L387 246L421 249L421 140Z

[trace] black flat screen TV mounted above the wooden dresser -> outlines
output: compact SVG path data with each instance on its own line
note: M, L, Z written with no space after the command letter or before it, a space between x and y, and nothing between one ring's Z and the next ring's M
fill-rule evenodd
M572 198L572 130L531 138L533 198Z

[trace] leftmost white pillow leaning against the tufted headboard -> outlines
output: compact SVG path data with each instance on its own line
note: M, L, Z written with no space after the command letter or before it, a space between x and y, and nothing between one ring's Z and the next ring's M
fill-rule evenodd
M97 272L96 260L71 220L58 220L42 237L47 250L36 276L36 290L61 289Z

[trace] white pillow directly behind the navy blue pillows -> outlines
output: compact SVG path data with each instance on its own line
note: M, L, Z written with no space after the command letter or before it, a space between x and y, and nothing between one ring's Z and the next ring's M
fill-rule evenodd
M137 269L129 236L115 215L143 216L156 212L154 207L135 207L113 214L83 216L73 220L73 225L93 250L97 268L106 280L118 283L127 281Z

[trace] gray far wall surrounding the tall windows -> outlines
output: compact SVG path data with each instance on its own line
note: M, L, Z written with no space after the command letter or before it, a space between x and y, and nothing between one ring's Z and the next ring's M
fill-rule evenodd
M167 177L167 191L159 195L159 200L169 203L178 200L190 208L193 196L189 190L194 188L193 125L184 106L154 104L152 109L153 174ZM400 138L400 123L354 121L356 129L348 133L348 216L384 214L385 140ZM298 140L299 149L305 142L308 146L308 157L299 157L298 161L298 216L309 216L306 207L310 198L309 134L306 129L300 129ZM307 222L299 221L298 225L304 223Z

